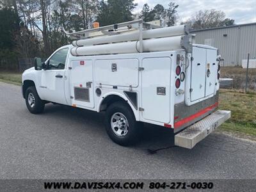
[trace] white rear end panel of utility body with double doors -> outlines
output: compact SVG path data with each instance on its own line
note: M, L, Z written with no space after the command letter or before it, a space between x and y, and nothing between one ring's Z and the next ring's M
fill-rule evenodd
M187 55L187 58L193 58L186 70L185 103L187 106L209 99L219 90L217 51L218 49L209 45L193 44L192 53ZM198 63L200 65L197 65ZM209 77L207 77L208 68Z

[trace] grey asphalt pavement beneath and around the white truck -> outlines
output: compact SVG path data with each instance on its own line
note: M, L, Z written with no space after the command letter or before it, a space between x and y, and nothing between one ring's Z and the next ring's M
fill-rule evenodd
M256 143L214 132L192 150L145 125L135 147L113 143L104 113L47 104L29 113L20 86L0 82L0 179L256 179Z

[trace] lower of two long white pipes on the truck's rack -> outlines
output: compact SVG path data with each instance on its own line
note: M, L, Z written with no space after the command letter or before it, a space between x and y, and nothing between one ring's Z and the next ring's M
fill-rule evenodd
M171 51L175 49L182 49L180 45L181 40L182 36L171 36L166 38L152 38L148 40L143 40L143 52ZM122 54L139 52L139 50L140 41L134 41L116 44L74 47L71 49L71 54L74 56L86 56L97 54Z

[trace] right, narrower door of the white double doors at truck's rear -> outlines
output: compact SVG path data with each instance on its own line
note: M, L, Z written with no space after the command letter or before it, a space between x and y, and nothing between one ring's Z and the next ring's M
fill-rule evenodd
M218 63L216 61L217 50L207 49L206 51L206 81L205 97L214 94L216 90Z

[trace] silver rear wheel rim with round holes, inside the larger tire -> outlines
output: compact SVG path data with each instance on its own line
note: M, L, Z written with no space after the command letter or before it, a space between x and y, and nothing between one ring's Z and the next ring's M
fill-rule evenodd
M127 118L122 113L115 113L111 116L111 128L117 136L125 136L129 129Z

